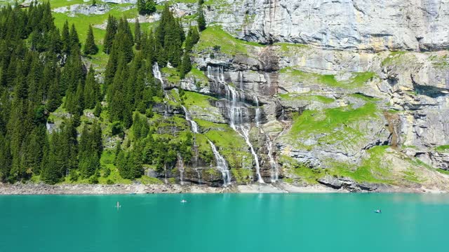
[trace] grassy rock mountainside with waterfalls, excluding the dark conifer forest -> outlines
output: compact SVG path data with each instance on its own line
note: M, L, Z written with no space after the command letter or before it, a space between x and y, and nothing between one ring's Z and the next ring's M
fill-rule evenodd
M138 18L149 31L165 2L138 16L133 1L51 1L55 25L73 22L80 41L93 25L100 52L83 62L100 82L107 15ZM186 30L196 25L197 1L169 2ZM154 65L165 96L147 118L156 140L192 136L192 158L177 153L162 170L144 164L145 183L449 189L447 1L208 0L201 8L208 28L193 68L182 79ZM64 116L53 112L48 132ZM100 118L101 162L113 171L100 183L129 183L112 160L118 141L133 148L134 128L112 134L113 122Z

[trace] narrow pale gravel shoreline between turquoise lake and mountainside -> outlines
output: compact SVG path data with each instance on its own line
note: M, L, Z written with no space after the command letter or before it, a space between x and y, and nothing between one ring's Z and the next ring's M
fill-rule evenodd
M126 195L126 194L177 194L177 193L448 193L438 188L401 188L388 186L382 190L351 191L334 189L321 184L311 186L294 186L288 183L251 184L214 188L208 186L189 185L95 185L95 184L60 184L43 183L0 183L0 195Z

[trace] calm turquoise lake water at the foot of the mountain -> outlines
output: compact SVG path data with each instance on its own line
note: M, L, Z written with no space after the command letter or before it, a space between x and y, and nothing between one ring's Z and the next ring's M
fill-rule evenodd
M449 195L0 196L2 252L448 251L448 233Z

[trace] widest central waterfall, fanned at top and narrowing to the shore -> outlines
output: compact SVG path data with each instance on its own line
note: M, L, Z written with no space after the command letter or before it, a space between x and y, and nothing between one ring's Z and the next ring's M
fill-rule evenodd
M243 139L245 139L246 144L250 148L250 152L253 155L255 160L255 170L257 174L257 182L264 183L262 176L260 175L260 164L257 153L254 150L253 144L251 144L249 132L250 132L250 123L243 122L243 113L246 113L247 110L244 107L239 106L239 102L241 101L242 95L238 92L234 87L228 85L225 82L225 75L223 66L218 67L217 76L213 74L212 67L208 66L208 78L213 80L215 84L217 81L222 83L226 89L227 99L229 100L229 126L232 127L237 133L239 133ZM243 85L243 76L241 76L241 85ZM243 97L244 98L244 97Z

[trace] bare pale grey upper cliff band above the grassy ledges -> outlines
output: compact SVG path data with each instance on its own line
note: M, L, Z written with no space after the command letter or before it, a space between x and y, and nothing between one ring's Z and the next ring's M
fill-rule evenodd
M239 38L337 50L441 50L448 46L445 0L228 0L209 21Z

